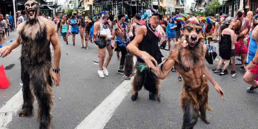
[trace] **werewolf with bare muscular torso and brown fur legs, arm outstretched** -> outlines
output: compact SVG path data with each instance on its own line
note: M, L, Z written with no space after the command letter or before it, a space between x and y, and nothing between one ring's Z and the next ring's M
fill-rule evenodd
M186 23L182 40L174 45L168 57L164 59L161 69L154 65L149 67L159 79L165 79L173 66L178 70L184 79L180 95L180 106L184 112L182 129L191 129L198 117L210 123L209 118L206 117L206 110L211 110L208 105L207 78L221 98L224 92L204 65L206 46L200 22L197 18L190 18Z

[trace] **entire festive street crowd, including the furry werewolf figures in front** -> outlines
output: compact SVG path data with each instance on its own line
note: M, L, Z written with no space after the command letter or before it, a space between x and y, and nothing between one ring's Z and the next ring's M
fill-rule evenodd
M30 6L33 6L33 9ZM182 128L192 128L198 116L204 122L210 123L209 118L206 117L206 110L211 110L208 106L208 80L220 97L224 96L222 88L204 65L205 59L213 64L216 56L213 41L218 42L221 57L213 72L220 73L220 76L227 75L227 68L231 62L231 74L234 77L236 75L235 56L240 56L240 69L246 71L243 78L251 85L247 88L247 92L253 92L258 88L258 9L255 16L251 11L245 16L243 10L238 10L236 18L225 15L220 16L219 19L188 14L169 16L151 9L146 10L143 15L136 14L132 19L128 19L126 14L120 14L114 18L108 11L103 11L99 13L98 18L92 19L82 16L77 11L72 12L71 17L64 14L61 18L46 17L38 13L39 6L34 0L27 1L25 8L27 17L18 12L18 38L9 46L2 47L2 40L4 36L7 37L8 26L11 26L12 30L12 16L6 15L4 20L3 15L0 15L0 57L8 55L22 44L21 78L25 97L24 106L19 115L32 115L31 94L36 93L38 110L45 109L43 113L38 111L38 115L41 116L41 127L51 127L50 111L53 105L51 83L52 79L56 86L59 86L60 82L61 49L56 33L60 33L67 45L68 36L72 35L74 46L76 35L80 35L82 48L86 50L88 41L94 42L99 52L97 73L101 78L109 76L108 65L113 50L116 51L117 59L120 59L117 73L123 75L122 80L129 80L134 76L131 97L133 101L137 99L143 85L149 91L149 99L160 101L161 80L165 79L171 71L177 72L178 82L184 79L180 95L180 105L184 112ZM32 28L35 31L31 31ZM38 42L35 43L35 40ZM171 41L174 43L173 48L171 48ZM40 48L38 48L39 45ZM160 49L169 51L167 58L162 60L164 56ZM51 51L52 57L54 55L54 69L49 73ZM137 59L135 63L134 56ZM246 63L247 66L245 66ZM39 74L32 72L35 69ZM38 84L38 82L41 83ZM37 84L36 87L33 86L35 84ZM46 104L42 105L42 103Z

